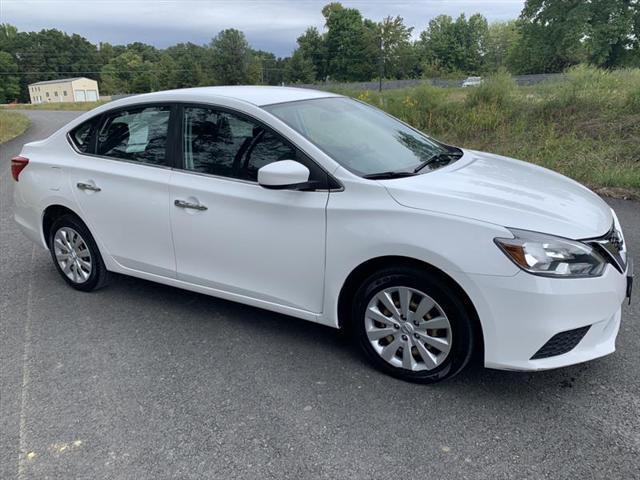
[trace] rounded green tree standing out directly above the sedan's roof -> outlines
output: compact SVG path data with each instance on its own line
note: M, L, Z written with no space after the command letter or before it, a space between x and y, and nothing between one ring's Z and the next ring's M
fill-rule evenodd
M221 31L211 41L212 64L216 79L223 85L253 83L259 75L249 42L239 30Z

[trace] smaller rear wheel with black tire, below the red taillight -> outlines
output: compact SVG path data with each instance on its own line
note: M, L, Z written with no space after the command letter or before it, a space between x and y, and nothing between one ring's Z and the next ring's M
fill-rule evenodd
M51 225L49 252L58 273L70 286L91 292L106 285L107 268L87 226L75 215L63 215Z

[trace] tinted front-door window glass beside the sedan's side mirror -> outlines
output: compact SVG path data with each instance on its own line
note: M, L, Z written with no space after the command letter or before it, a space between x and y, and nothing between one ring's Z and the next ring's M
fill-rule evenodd
M255 181L264 165L296 158L289 143L233 113L186 107L183 125L187 170Z

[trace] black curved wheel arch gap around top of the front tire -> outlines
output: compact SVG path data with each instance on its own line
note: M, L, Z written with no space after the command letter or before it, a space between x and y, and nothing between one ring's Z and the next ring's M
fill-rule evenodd
M376 257L371 258L354 268L344 281L338 295L338 328L343 329L349 327L349 323L351 321L351 319L349 318L349 302L353 298L353 295L355 294L358 287L362 284L362 282L364 282L367 277L374 274L375 272L389 267L409 267L426 270L429 273L441 278L442 281L449 286L449 288L455 290L462 299L462 302L464 303L467 312L469 313L469 317L473 322L474 330L477 333L475 341L476 352L478 352L479 355L484 356L484 336L482 331L482 324L480 322L478 311L467 292L465 292L462 286L460 286L460 284L446 272L437 267L434 267L429 263L411 257Z

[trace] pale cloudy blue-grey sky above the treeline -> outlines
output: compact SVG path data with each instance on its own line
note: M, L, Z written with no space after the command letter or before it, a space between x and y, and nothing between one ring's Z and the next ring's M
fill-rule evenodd
M290 55L309 26L322 31L330 0L0 0L0 23L21 31L57 28L93 43L144 42L158 48L208 43L220 30L242 30L253 48ZM524 0L345 0L366 18L400 15L418 34L447 14L481 13L490 22L515 19Z

